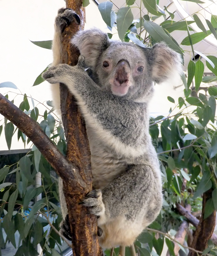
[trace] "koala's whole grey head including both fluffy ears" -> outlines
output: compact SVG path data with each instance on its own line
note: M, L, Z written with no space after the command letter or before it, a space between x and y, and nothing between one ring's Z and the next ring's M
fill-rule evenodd
M85 57L98 78L98 85L124 99L146 102L153 83L161 83L182 72L181 57L164 43L152 49L133 43L109 40L96 28L76 34L72 43Z

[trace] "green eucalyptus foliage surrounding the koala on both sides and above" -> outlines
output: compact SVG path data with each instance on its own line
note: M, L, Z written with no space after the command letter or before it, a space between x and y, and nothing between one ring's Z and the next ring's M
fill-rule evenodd
M191 0L191 2L201 3L199 0ZM84 1L83 5L87 6L88 3L88 0ZM176 102L168 95L167 100L172 106L170 110L168 109L169 114L150 118L149 131L162 166L164 199L157 220L135 241L136 252L145 256L162 255L164 244L167 245L170 255L174 255L174 241L171 236L175 235L184 219L177 212L176 203L189 203L193 212L200 211L201 195L212 189L212 198L206 203L205 217L217 210L215 116L217 88L212 84L217 81L217 58L212 55L206 56L193 49L194 44L208 35L217 36L217 16L212 15L210 21L206 20L209 28L206 30L206 24L197 13L193 14L192 21L175 22L174 13L166 7L162 10L158 4L159 1L156 0L142 0L140 9L145 7L148 14L140 16L137 20L134 20L132 12L132 8L137 7L135 0L126 0L126 6L119 10L113 8L111 1L99 4L103 20L112 33L117 29L120 40L126 42L131 40L142 47L151 47L156 42L164 41L181 55L184 55L185 51L180 45L191 45L192 56L195 57L195 53L200 55L197 61L193 58L189 63L184 63L187 67L187 81L183 77L184 97L179 97ZM161 16L165 20L161 23L155 22ZM191 27L192 23L195 23L202 32L195 32ZM176 30L188 33L180 44L170 35ZM109 38L112 37L112 33L109 33ZM51 41L33 43L47 49L51 47ZM206 63L202 61L203 59ZM204 76L204 64L213 75ZM39 75L33 86L41 82L43 79ZM0 87L17 88L11 82L1 83ZM204 87L207 91L206 95L200 91ZM44 114L39 114L35 102L31 96L24 95L19 107L40 124L47 136L64 154L66 151L64 131L59 120L52 113L51 102L47 101L47 105L43 104ZM32 109L30 105L33 106ZM12 136L17 128L7 120L0 126L0 135L3 128L10 149ZM18 140L21 138L24 146L30 143L20 130L17 136ZM41 177L41 185L36 184L37 177ZM18 162L2 167L0 170L2 248L5 248L7 241L10 241L17 249L15 255L38 255L36 246L40 244L46 256L60 255L56 249L58 247L61 253L62 240L52 228L48 228L52 223L55 229L59 230L61 221L56 181L54 171L35 146ZM38 198L39 195L42 195L42 198ZM6 240L3 238L2 230L7 235ZM16 231L20 235L18 244L15 242ZM183 247L182 249L184 250ZM210 243L203 253L205 255L208 252L217 255L214 244ZM111 255L111 250L105 250L104 253ZM119 248L115 248L113 255L118 253ZM129 248L126 248L126 255L131 255Z

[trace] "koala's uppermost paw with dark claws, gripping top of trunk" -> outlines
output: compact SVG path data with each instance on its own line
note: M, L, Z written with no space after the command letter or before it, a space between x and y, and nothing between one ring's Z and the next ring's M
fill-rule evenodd
M55 19L55 24L58 28L60 28L61 33L64 32L65 28L68 27L75 18L78 25L80 24L80 17L76 12L74 12L70 8L61 8L58 11L58 15Z

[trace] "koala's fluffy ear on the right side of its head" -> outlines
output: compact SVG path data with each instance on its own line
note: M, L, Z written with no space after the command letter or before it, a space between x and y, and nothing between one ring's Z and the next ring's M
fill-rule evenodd
M181 55L169 48L165 43L157 43L148 53L148 63L151 67L152 78L156 83L162 83L173 74L181 75Z

